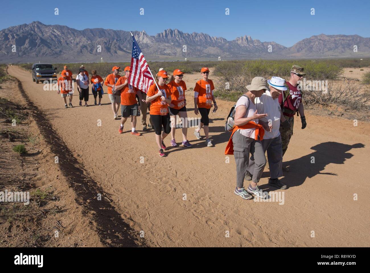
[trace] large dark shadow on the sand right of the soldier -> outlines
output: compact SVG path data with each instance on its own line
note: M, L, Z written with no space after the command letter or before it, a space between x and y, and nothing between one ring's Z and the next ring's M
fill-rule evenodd
M330 163L344 164L346 159L353 157L348 151L364 147L362 143L348 145L333 141L317 144L311 147L314 150L311 154L285 162L284 165L289 166L290 172L285 172L285 177L280 180L289 187L295 187L302 185L306 178L315 175L337 175L322 171Z

